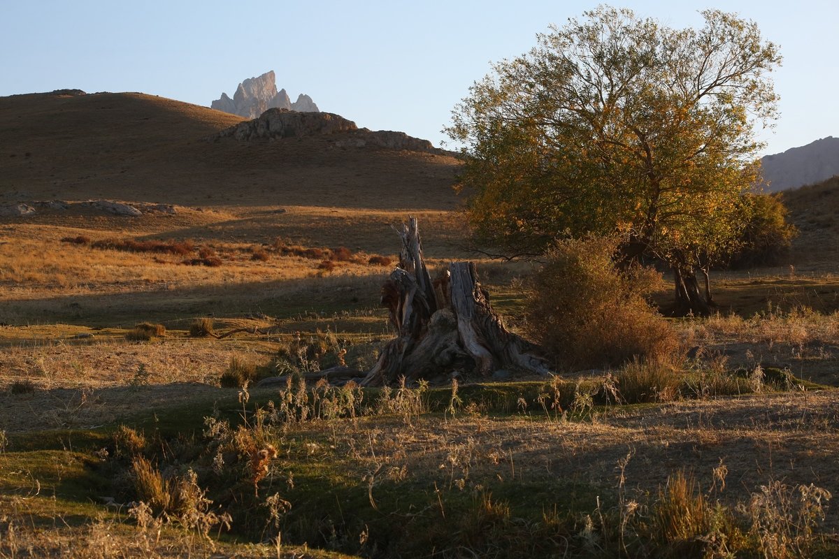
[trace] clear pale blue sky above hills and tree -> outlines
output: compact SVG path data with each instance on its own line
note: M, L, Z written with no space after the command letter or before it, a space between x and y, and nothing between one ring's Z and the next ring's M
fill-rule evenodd
M839 136L836 0L796 3L612 2L670 27L701 27L701 9L736 12L779 44L781 116L763 153ZM440 145L451 110L492 62L524 54L551 23L599 2L472 0L0 0L0 96L56 89L141 91L210 106L274 70L359 127ZM449 144L451 148L451 143Z

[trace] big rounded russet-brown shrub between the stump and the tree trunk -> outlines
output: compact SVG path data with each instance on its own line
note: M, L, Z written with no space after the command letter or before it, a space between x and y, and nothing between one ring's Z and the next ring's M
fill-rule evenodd
M557 241L533 279L529 334L560 364L592 368L670 360L679 340L646 297L662 285L644 267L618 270L617 236Z

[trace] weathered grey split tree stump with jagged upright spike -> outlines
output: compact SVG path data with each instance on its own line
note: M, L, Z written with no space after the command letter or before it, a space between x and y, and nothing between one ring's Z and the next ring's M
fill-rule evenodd
M416 218L399 231L399 267L382 287L397 336L379 354L362 386L408 383L451 371L498 369L550 375L534 346L504 327L492 311L487 292L477 282L472 262L452 262L432 282L425 266Z

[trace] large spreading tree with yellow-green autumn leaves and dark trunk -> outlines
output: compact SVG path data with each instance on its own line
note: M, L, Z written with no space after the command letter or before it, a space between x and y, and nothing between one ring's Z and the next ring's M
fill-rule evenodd
M677 312L708 313L696 271L748 220L780 56L755 23L701 14L675 29L601 6L472 85L447 132L465 146L477 236L524 256L620 230L624 256L672 268Z

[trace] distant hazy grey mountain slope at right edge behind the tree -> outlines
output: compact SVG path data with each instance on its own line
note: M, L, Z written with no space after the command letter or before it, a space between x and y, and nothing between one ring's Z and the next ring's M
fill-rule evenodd
M839 174L839 138L828 136L784 153L767 155L760 164L771 192L815 184Z

